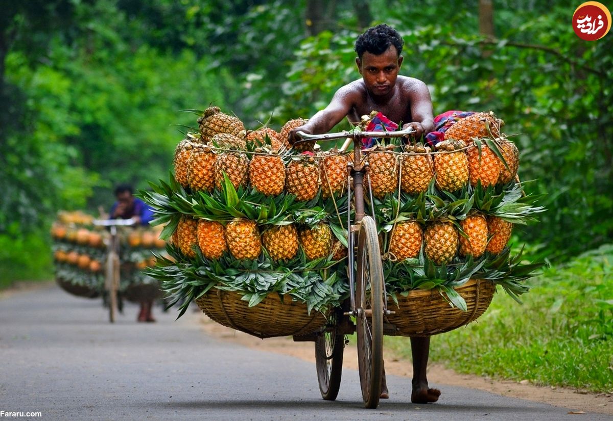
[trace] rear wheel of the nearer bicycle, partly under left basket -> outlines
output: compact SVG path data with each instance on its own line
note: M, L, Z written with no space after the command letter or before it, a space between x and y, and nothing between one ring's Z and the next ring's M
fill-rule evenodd
M343 310L335 310L315 341L315 366L321 397L327 401L337 398L343 374L345 335L341 332Z

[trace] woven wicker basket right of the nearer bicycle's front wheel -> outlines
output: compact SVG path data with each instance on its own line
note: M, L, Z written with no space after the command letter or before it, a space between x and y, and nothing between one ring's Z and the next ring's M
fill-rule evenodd
M450 307L436 289L416 290L406 297L398 294L398 305L389 300L387 309L395 314L387 316L386 322L394 324L395 334L400 336L427 337L449 332L481 316L492 302L496 287L492 281L471 279L455 291L466 300L468 311Z

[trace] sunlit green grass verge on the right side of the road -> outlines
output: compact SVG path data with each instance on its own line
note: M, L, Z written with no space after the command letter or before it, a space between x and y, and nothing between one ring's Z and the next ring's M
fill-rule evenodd
M430 360L462 373L613 392L613 245L531 281L519 305L499 288L478 322L432 338ZM410 358L405 338L386 348Z

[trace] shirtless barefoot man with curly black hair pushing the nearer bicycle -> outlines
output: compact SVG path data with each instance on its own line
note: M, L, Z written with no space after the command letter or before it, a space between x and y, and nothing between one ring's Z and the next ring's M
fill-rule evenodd
M356 40L356 65L362 78L346 84L332 97L324 110L289 134L290 143L299 140L299 131L309 134L329 132L343 118L353 124L360 117L379 111L391 121L403 122L403 130L415 130L417 138L434 129L430 91L421 80L399 76L402 65L403 40L400 34L386 24L367 29ZM426 368L430 352L430 338L411 338L413 356L413 403L436 402L441 392L428 388ZM381 398L389 398L385 371L381 385Z

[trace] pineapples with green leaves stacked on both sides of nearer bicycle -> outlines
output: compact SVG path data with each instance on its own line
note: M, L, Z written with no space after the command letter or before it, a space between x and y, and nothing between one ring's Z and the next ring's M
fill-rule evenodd
M183 311L211 288L241 292L249 305L271 292L309 309L338 305L348 290L344 193L352 156L314 152L312 142L290 147L287 135L303 119L280 133L248 131L210 107L198 122L175 150L170 182L143 193L166 225L162 237L172 236L170 257L148 273ZM492 113L473 114L446 135L435 151L387 144L365 153L387 291L481 277L514 296L525 292L521 281L534 267L512 258L507 243L512 224L541 208L522 194L517 147Z

